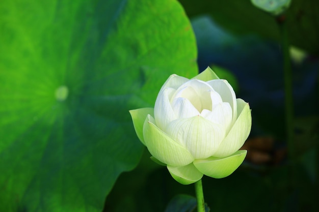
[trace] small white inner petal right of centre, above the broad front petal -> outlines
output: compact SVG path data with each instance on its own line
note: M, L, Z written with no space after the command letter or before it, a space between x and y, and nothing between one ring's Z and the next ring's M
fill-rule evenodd
M201 115L211 122L220 124L226 133L228 133L232 126L232 110L228 102L219 103L212 111Z

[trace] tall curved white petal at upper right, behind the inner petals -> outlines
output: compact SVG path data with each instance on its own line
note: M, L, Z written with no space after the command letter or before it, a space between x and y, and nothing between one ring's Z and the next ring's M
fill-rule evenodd
M207 82L221 96L223 102L228 102L231 106L233 115L232 123L237 118L236 95L232 86L225 79L215 79Z

